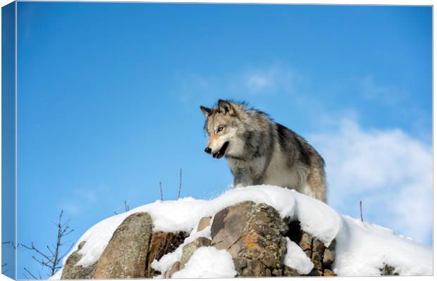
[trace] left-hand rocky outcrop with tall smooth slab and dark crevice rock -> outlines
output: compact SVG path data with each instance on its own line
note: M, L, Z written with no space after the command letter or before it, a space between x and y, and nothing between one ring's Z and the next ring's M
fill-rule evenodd
M144 278L159 275L152 261L180 246L186 232L152 232L152 218L147 213L134 213L123 220L113 233L99 260L91 266L78 266L82 257L78 252L68 256L62 270L62 279Z

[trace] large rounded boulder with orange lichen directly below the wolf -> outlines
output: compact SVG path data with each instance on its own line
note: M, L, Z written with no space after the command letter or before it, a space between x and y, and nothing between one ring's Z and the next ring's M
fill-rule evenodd
M238 277L279 275L287 231L288 226L273 207L245 201L216 213L211 245L228 250L238 261Z

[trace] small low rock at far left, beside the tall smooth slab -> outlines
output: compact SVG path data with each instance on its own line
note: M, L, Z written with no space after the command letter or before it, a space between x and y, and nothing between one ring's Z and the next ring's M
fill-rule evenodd
M78 250L68 256L66 264L63 266L61 279L90 279L92 277L96 263L85 268L83 266L76 266L76 263L82 258L78 251L82 249L83 245L85 245L85 241L80 242Z

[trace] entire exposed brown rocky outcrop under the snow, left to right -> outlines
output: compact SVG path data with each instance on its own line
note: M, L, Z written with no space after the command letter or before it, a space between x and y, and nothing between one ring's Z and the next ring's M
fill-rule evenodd
M212 222L211 222L212 220ZM182 246L185 232L152 232L152 219L147 213L135 213L125 218L113 233L108 246L92 266L77 266L78 251L68 257L63 279L169 278L182 270L192 254L202 246L224 249L233 258L237 277L300 276L295 269L283 264L288 237L295 242L314 264L308 275L333 276L331 266L336 257L336 243L326 247L321 241L303 232L300 223L287 224L278 211L267 204L245 201L224 208L214 218L199 220L197 232L211 225L211 239L197 237L182 248L180 261L165 273L152 268L152 261Z

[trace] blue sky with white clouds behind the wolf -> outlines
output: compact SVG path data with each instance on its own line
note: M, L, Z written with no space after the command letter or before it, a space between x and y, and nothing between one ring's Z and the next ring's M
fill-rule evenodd
M199 105L244 100L325 157L340 213L432 242L431 7L18 3L18 241L230 188ZM37 271L25 249L23 267Z

